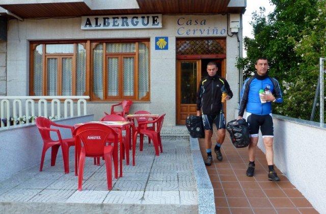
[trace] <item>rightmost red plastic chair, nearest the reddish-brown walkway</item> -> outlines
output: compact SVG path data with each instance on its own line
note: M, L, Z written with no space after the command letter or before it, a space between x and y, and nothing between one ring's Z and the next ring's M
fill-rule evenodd
M139 129L140 134L148 136L150 139L153 140L153 145L155 149L155 154L159 156L159 151L158 147L160 148L160 151L163 152L162 149L162 142L161 142L161 136L160 136L160 131L163 125L164 121L164 115L161 115L159 118L153 120L153 121L146 121L146 122L141 122L139 123L139 126L142 127ZM149 130L147 129L147 124L152 123L153 126L155 126L155 130ZM137 142L137 135L138 135L138 130L135 131L134 136L133 136L133 141L132 141L132 157L134 160L134 155L135 155L135 148L136 148L136 142ZM140 150L143 151L143 144L140 144ZM132 163L134 165L134 162Z

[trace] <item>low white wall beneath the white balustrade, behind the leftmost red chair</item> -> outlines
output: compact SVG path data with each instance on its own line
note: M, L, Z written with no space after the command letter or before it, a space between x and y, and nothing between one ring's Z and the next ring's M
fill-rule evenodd
M73 125L80 122L92 121L93 117L93 115L87 115L58 120L56 123ZM71 131L69 129L60 128L60 132L63 138L71 137ZM9 178L21 170L40 164L43 141L35 124L24 124L20 127L1 129L0 136L0 181ZM53 136L53 139L56 139L56 137ZM57 159L61 158L61 155L61 150L59 150ZM50 157L51 149L48 149L45 161L49 160ZM62 170L64 173L64 169Z

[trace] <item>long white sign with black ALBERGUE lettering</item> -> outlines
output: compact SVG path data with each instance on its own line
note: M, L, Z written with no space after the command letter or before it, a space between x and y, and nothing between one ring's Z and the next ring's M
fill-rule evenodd
M82 16L82 30L162 28L162 14Z

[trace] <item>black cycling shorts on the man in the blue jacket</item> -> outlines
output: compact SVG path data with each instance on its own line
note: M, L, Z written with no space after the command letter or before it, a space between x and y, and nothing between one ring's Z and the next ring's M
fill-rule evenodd
M255 115L247 112L247 122L249 123L250 137L258 137L259 127L263 138L274 137L273 118L269 115Z

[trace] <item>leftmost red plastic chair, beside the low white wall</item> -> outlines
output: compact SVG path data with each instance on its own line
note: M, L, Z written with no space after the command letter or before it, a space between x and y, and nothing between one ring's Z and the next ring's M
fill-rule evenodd
M75 145L75 138L72 137L68 139L62 139L60 130L51 128L51 126L70 128L71 133L74 131L74 127L69 125L61 125L61 124L54 123L45 117L37 117L35 119L35 123L40 131L43 140L43 150L41 156L40 171L42 171L43 169L44 156L49 148L51 148L51 166L56 165L58 150L59 147L61 146L65 173L69 173L69 148L70 146ZM50 131L57 132L58 140L51 139Z

